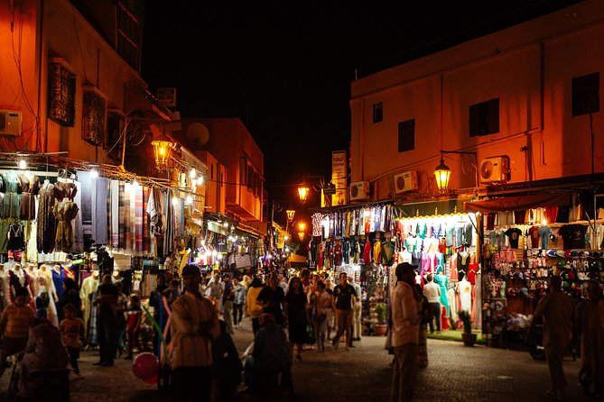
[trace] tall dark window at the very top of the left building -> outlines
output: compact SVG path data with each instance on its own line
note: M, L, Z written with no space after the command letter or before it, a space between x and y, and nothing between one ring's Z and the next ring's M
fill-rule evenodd
M117 4L117 53L136 71L140 71L141 24L124 5Z

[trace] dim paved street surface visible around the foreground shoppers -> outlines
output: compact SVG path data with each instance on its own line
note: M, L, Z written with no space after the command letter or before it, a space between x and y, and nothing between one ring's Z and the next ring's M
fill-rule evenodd
M248 323L246 323L248 324ZM234 337L240 352L251 342L248 326L237 328ZM302 362L294 363L294 393L282 397L289 401L384 401L390 390L391 356L383 350L385 338L365 337L350 352L305 352ZM546 401L548 373L544 361L534 361L528 352L508 351L486 346L468 348L462 343L429 340L430 366L418 379L417 401ZM93 366L98 356L83 352L80 359L85 379L71 380L72 400L171 401L169 394L135 378L131 361L119 359L115 367ZM577 385L579 361L565 361L569 382L568 400L592 400L581 395ZM0 400L8 400L5 389L9 372L0 380ZM241 397L242 401L261 400Z

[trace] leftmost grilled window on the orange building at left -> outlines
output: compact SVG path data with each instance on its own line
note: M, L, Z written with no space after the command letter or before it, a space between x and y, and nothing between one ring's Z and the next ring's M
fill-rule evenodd
M76 75L60 62L51 62L48 69L48 116L63 127L76 121Z

